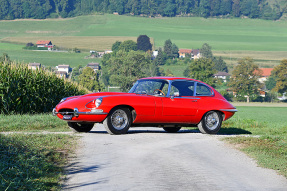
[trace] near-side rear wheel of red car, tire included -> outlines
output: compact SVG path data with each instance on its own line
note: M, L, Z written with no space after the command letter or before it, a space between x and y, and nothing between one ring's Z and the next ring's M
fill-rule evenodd
M222 115L216 111L209 111L198 124L198 129L203 134L216 134L220 130L221 124Z

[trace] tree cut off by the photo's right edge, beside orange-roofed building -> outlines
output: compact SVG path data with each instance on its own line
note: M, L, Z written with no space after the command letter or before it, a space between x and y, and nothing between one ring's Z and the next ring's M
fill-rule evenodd
M280 62L272 71L272 75L276 77L275 91L279 93L287 92L287 59Z

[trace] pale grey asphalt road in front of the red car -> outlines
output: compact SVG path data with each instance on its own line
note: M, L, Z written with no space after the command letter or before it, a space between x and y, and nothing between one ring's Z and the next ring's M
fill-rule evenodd
M222 136L159 128L109 135L102 125L80 136L63 190L287 190L286 178L258 167Z

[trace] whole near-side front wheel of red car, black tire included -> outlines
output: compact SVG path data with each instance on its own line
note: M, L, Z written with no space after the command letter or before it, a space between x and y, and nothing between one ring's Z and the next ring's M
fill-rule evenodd
M132 115L128 108L114 108L104 120L103 124L111 135L126 134L131 126Z

